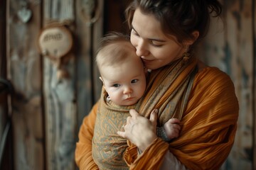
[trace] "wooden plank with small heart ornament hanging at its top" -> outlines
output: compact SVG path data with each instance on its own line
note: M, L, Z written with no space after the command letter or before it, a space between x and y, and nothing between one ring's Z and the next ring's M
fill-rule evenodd
M32 18L18 18L21 1L7 1L7 73L16 90L12 98L14 169L44 169L43 116L41 108L41 58L35 43L40 30L38 1L29 1Z

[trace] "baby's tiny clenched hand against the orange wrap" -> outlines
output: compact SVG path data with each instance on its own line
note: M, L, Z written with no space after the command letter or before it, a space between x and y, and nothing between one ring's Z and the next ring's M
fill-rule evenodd
M179 125L179 123L180 121L176 118L171 118L164 123L164 131L170 140L178 137L179 131L181 130L181 125Z

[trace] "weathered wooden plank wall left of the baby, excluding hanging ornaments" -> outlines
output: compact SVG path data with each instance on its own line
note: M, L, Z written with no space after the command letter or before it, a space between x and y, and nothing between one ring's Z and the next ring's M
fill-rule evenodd
M93 57L102 37L104 1L97 1L100 15L95 23L87 16L90 2L95 1L26 2L32 16L23 23L18 16L23 1L6 1L6 77L15 89L11 98L14 169L75 169L78 128L101 89ZM38 50L38 36L53 23L73 35L70 60L63 64L67 79L57 79L55 63Z

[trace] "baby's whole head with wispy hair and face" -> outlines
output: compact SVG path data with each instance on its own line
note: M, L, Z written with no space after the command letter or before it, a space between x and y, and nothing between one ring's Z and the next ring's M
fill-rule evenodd
M103 86L114 103L129 106L139 101L146 89L146 77L129 37L121 33L105 36L96 63Z

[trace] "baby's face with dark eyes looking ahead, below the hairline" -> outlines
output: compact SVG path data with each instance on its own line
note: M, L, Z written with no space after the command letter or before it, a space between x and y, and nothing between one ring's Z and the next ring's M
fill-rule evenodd
M117 105L133 105L144 94L146 77L139 57L123 64L102 67L101 72L107 94Z

